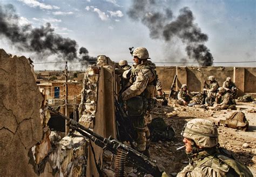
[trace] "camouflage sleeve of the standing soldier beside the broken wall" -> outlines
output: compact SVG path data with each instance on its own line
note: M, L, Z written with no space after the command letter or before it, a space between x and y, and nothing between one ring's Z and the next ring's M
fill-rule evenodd
M125 72L124 72L125 73ZM122 93L122 99L127 99L139 96L146 88L149 78L154 77L149 69L142 69L137 73L134 83Z

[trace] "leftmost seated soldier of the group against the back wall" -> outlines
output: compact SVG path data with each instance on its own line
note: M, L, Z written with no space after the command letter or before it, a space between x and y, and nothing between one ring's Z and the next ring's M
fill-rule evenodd
M183 84L179 90L178 93L178 101L177 103L179 105L183 105L183 106L187 106L191 100L192 100L192 94L190 93L190 91L187 90L187 85Z

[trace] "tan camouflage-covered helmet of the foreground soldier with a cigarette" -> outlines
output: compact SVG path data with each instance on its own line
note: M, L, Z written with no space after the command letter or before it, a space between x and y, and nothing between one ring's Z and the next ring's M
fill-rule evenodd
M203 148L214 147L218 144L217 127L210 120L192 119L185 124L181 135L192 139L197 146Z

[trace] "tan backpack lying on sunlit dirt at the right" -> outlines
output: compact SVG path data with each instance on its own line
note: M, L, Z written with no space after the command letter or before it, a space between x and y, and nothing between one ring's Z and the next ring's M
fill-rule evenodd
M220 120L218 124L224 124L227 127L235 128L243 131L246 131L249 126L249 122L246 120L245 114L241 111L234 112L226 120Z

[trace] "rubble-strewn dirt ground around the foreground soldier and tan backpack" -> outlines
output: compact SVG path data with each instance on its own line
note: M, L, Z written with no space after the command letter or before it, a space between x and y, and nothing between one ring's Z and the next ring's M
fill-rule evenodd
M230 150L237 159L250 168L254 176L256 176L256 164L251 159L256 155L256 113L249 113L248 110L256 110L255 106L253 103L238 103L237 105L249 121L250 126L247 132L218 126L220 146ZM231 110L213 111L211 108L204 111L203 108L179 106L171 100L169 106L162 106L158 103L158 107L153 110L152 118L164 118L166 123L176 131L176 137L171 142L151 142L151 159L156 160L159 168L169 176L176 176L188 164L185 149L176 150L184 145L180 133L187 121L204 118L217 124L220 119L225 120L234 112Z

